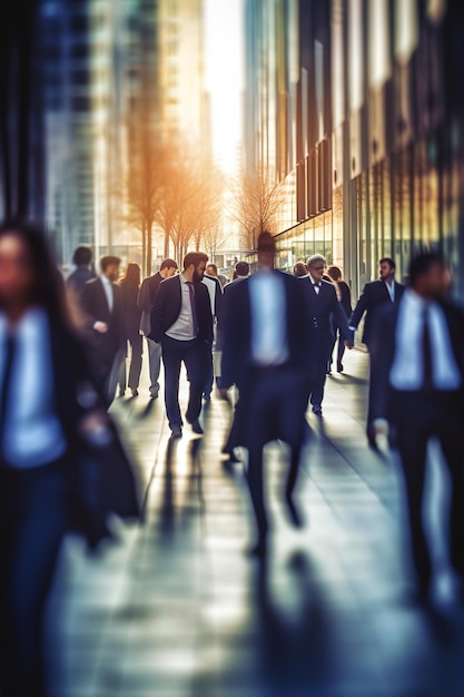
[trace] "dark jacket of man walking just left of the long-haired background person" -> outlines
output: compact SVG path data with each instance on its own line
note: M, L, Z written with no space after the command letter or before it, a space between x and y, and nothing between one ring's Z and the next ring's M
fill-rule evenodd
M82 292L82 311L85 313L85 336L90 350L100 355L113 357L124 347L126 335L124 326L122 292L119 285L111 284L113 307L110 312L100 278L86 283ZM96 322L106 322L108 332L100 334L93 328Z

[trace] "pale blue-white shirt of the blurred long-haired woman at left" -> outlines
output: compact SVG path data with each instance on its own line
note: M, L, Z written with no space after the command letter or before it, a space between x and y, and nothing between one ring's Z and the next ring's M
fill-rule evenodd
M3 381L3 342L7 318L0 314L0 383ZM14 328L13 359L7 405L3 452L16 468L34 468L62 457L67 440L55 409L55 375L47 314L41 308L27 312Z

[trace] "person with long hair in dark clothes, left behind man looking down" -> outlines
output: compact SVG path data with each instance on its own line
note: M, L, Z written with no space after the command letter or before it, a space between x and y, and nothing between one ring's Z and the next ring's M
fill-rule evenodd
M122 291L122 313L126 334L126 355L119 371L119 396L124 396L126 387L138 395L141 373L142 335L140 334L141 310L137 306L140 289L140 266L130 262L119 282ZM127 377L126 360L127 343L130 345L129 379Z

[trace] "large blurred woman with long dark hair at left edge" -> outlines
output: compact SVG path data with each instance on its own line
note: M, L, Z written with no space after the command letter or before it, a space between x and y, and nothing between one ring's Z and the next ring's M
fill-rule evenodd
M46 234L29 222L0 224L2 697L48 694L43 613L59 550L68 531L85 534L91 547L111 536L106 519L118 511L100 498L108 481L99 488L93 465L116 438L68 320L65 283ZM116 467L112 477L120 482L119 461ZM138 516L129 470L127 517Z

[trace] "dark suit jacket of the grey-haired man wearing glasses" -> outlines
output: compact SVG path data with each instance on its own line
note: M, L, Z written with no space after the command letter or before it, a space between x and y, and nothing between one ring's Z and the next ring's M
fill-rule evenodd
M314 335L313 347L323 350L329 348L334 342L334 324L339 327L343 341L352 341L352 333L348 330L348 322L338 301L333 283L322 281L319 293L314 289L309 276L297 278L305 288L308 303L309 315L306 315L310 333ZM305 315L302 315L304 317Z

